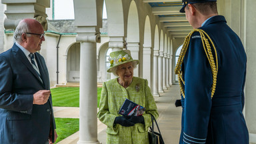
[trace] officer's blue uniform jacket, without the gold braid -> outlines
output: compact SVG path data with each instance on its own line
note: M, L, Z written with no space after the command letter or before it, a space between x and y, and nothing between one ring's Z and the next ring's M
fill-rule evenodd
M221 15L212 17L199 29L211 37L217 49L217 86L211 99L211 67L199 32L195 32L182 65L185 99L182 97L181 101L180 143L247 144L249 134L242 113L247 63L245 49Z

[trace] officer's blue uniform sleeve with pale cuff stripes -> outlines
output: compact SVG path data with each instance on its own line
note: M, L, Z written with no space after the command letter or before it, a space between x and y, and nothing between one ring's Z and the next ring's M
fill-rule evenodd
M205 143L211 112L211 85L213 78L201 37L191 39L184 64L185 110L183 143Z

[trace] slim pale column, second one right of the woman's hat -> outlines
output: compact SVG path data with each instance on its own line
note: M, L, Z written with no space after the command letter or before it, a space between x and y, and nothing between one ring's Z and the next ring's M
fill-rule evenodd
M159 51L154 51L154 58L153 58L153 96L159 97L159 91L158 91L158 57L159 57Z

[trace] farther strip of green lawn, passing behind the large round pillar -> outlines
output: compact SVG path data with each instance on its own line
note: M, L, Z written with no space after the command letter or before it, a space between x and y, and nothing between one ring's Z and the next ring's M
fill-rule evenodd
M51 89L54 107L79 107L79 87L57 87ZM97 88L97 107L101 98L101 87Z

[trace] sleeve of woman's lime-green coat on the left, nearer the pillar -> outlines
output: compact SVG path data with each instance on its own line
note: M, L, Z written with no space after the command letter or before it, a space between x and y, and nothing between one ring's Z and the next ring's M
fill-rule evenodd
M117 129L118 125L115 125L116 127L113 127L115 117L116 115L113 115L109 113L109 102L108 102L108 95L107 95L107 87L106 84L103 83L102 90L101 90L101 101L99 102L99 112L97 113L97 117L99 118L99 121L107 125L107 127L110 127L115 131Z

